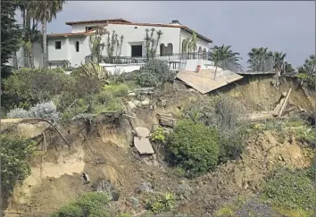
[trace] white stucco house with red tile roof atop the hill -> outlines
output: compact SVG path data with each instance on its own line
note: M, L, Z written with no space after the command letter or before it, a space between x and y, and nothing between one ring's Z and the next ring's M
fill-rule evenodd
M154 28L156 31L162 30L162 37L157 46L156 55L174 56L179 58L182 52L183 42L186 38L191 38L194 30L181 25L179 21L171 21L169 24L137 23L123 19L97 20L97 21L69 21L66 25L71 26L69 33L47 34L47 55L50 67L62 66L65 63L71 67L78 67L85 61L85 57L91 54L90 35L94 34L95 26L102 26L108 32L115 31L119 38L123 36L121 44L121 57L141 58L146 56L146 29ZM197 50L199 54L209 52L212 40L195 32L197 36ZM107 35L104 36L106 44ZM35 67L42 64L42 46L35 43L33 46L33 56ZM102 54L107 56L106 47ZM23 49L17 54L18 67L24 66ZM178 57L177 57L178 56ZM203 59L203 58L202 58ZM10 63L12 65L12 61Z

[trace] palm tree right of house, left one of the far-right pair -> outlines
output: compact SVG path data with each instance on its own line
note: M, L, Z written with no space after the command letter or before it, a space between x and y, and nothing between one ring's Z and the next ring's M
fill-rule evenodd
M250 71L271 71L273 68L273 54L268 51L268 47L252 48L248 53Z

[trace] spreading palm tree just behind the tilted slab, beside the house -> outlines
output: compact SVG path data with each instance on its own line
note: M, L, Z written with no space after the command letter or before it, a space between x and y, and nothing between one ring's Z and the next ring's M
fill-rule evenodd
M242 60L237 52L233 52L230 49L231 46L214 46L211 49L212 61L214 65L225 70L241 71L242 66L238 61ZM215 70L216 71L216 70Z

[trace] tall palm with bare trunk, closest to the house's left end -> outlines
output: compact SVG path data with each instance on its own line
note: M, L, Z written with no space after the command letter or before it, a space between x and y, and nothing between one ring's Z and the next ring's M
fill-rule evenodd
M50 1L32 1L31 16L42 24L43 34L43 67L47 68L47 36L46 26L47 22L51 22L56 18L56 14L62 11L64 0L50 0Z

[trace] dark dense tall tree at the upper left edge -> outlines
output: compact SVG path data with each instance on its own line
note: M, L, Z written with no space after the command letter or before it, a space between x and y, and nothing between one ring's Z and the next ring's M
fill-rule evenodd
M4 65L12 58L12 54L20 48L21 30L14 19L16 3L14 1L1 2L1 78L10 75L10 67Z

